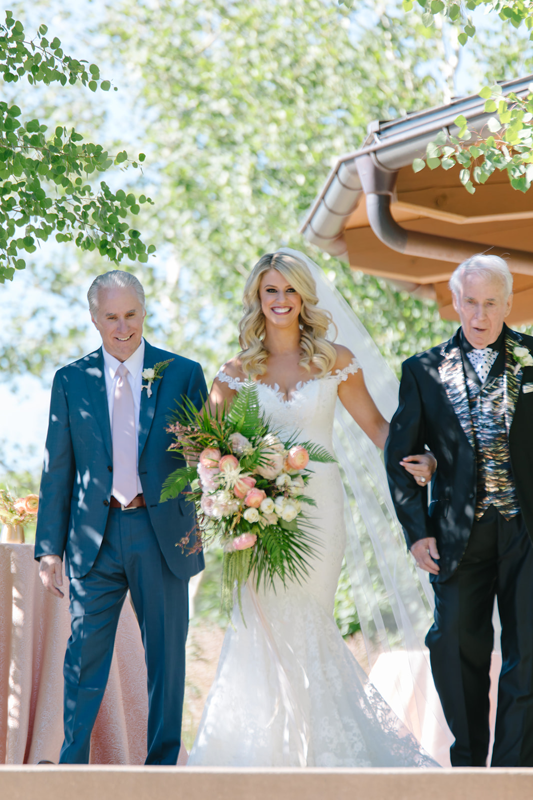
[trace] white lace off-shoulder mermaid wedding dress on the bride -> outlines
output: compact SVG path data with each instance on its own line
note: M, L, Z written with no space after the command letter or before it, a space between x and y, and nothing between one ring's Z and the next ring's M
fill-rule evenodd
M332 452L344 370L296 386L285 400L258 382L274 426ZM219 380L243 386L223 371ZM344 555L343 491L336 464L312 462L307 494L318 539L301 584L256 592L248 583L225 634L189 766L438 766L368 681L333 618Z

